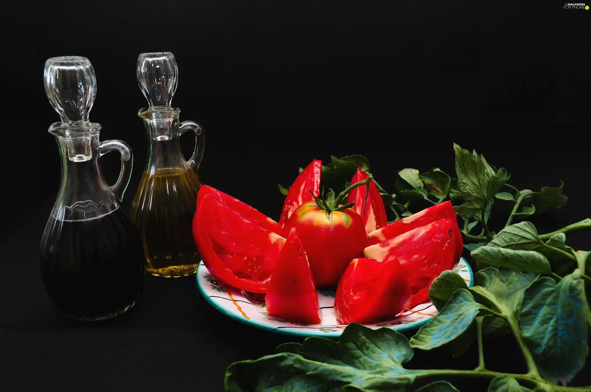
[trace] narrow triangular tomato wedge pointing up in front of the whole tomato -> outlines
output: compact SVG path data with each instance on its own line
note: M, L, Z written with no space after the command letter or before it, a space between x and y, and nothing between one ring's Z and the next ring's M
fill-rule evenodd
M287 321L320 324L318 293L304 246L292 228L271 275L265 304L269 315Z

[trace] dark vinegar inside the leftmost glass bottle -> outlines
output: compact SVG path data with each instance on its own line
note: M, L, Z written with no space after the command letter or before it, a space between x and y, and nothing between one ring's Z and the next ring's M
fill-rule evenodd
M124 313L144 282L137 228L121 208L86 220L53 218L41 243L41 273L69 318L98 321Z

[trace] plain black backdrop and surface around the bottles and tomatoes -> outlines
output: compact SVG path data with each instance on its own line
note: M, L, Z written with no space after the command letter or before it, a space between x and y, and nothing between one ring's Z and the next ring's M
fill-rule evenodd
M23 106L21 119L29 123L14 126L30 132L30 155L37 145L38 155L24 159L32 168L13 162L7 174L27 192L12 197L5 208L18 217L2 227L0 388L219 391L232 362L298 341L215 311L193 277L148 276L137 307L103 324L78 325L57 312L38 267L60 181L57 145L47 133L59 120L43 89L47 58L92 61L98 93L90 119L102 124L103 141L122 139L134 151L128 211L147 158L137 117L147 106L135 79L137 56L171 51L180 75L173 106L207 134L201 181L274 219L283 201L277 183L290 185L298 166L313 158L365 155L375 178L394 192L398 169L453 173L457 142L507 168L518 188L564 181L567 207L532 219L546 232L591 214L591 12L562 6L143 1L62 2L38 10L36 60L7 81L35 97ZM187 156L192 142L184 136ZM102 158L102 169L112 184L116 153ZM27 195L33 201L22 208L19 199ZM507 208L495 204L493 228L504 223ZM576 249L589 249L590 238L569 236ZM493 370L523 370L513 342L489 341L485 350ZM413 366L475 366L475 351L459 361L438 355L417 352ZM456 386L486 390L486 383L472 382ZM591 384L584 375L575 382Z

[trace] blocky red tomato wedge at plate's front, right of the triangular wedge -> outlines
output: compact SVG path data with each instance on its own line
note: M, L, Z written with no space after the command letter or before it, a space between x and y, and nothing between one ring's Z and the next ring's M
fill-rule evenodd
M397 259L378 262L363 257L353 260L335 294L335 311L340 324L372 324L393 319L404 311L411 290Z

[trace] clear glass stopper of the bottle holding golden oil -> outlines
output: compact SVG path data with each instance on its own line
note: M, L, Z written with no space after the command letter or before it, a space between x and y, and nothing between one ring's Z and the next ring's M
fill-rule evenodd
M142 53L138 57L139 88L150 107L170 107L178 83L178 67L170 52Z

